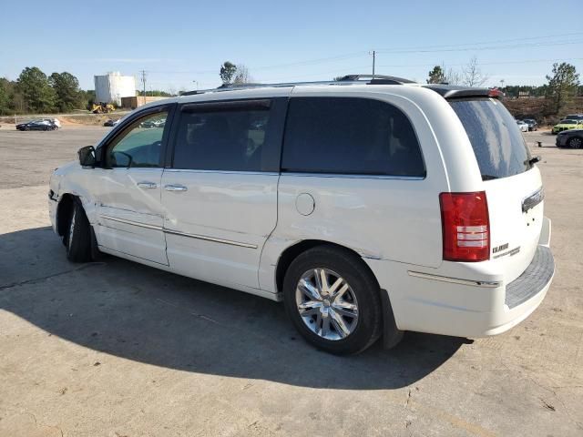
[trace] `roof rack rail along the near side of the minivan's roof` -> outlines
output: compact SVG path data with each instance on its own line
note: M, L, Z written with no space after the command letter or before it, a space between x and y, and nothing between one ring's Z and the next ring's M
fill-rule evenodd
M221 85L216 88L210 89L198 89L194 91L185 91L180 93L180 96L195 96L197 94L205 93L219 93L222 91L233 91L237 89L249 89L249 88L261 88L266 86L271 87L284 87L284 86L301 86L301 85L336 85L336 86L346 86L346 85L404 85L404 84L414 84L413 80L404 79L402 77L395 76L383 76L383 75L348 75L343 76L339 80L322 80L315 82L282 82L279 84L240 84L240 85Z

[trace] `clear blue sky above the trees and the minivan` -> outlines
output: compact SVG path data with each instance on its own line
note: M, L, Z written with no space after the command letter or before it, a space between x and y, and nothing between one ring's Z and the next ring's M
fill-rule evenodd
M370 73L374 49L377 74L424 81L435 64L476 56L486 85L542 85L553 62L583 72L583 29L559 8L580 16L580 0L6 2L0 76L38 66L92 89L94 75L145 69L148 89L178 91L220 85L226 60L258 82Z

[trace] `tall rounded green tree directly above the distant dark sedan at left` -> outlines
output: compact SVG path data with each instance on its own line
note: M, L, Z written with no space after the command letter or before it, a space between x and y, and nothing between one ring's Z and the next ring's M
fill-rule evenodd
M24 97L26 109L37 113L50 112L54 109L55 90L50 86L46 74L40 68L27 66L18 76L16 83Z

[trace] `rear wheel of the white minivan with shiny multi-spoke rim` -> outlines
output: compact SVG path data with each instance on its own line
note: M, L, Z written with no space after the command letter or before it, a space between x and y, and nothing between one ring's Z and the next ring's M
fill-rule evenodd
M320 279L319 288L316 272L322 278L322 271L328 287ZM330 293L341 279L335 292ZM322 293L314 293L314 288ZM316 299L318 296L320 300ZM347 249L318 246L299 255L285 273L283 299L296 330L322 351L339 355L358 353L382 334L379 285L363 260Z

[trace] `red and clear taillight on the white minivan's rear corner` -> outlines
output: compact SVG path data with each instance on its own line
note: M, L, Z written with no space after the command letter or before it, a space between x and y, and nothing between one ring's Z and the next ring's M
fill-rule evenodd
M485 261L490 258L490 220L486 192L441 193L444 259Z

